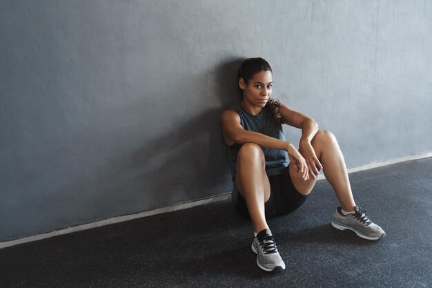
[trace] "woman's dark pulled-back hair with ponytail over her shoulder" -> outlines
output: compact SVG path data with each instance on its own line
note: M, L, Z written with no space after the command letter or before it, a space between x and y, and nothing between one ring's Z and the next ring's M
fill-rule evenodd
M243 78L244 83L248 85L249 80L252 79L253 75L261 71L270 71L271 73L273 73L270 64L268 64L266 60L259 57L248 58L243 61L242 65L239 68L238 79ZM282 113L279 109L280 106L281 103L279 99L269 99L266 104L266 107L270 110L273 121L277 126L282 124Z

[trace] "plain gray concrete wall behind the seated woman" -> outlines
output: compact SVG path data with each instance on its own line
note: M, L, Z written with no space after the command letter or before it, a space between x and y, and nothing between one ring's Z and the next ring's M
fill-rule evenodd
M0 241L230 191L244 57L348 166L431 151L431 31L430 1L3 0Z

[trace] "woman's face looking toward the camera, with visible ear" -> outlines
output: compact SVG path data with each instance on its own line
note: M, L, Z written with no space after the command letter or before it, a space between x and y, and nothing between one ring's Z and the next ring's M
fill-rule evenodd
M242 78L239 79L239 87L243 90L243 98L256 107L266 106L271 97L273 77L271 71L261 71L253 75L246 85Z

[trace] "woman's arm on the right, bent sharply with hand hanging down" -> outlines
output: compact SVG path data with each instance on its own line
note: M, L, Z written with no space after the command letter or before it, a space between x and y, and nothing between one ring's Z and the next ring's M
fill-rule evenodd
M288 106L282 104L280 106L282 113L282 123L302 129L302 137L300 138L300 153L302 153L304 159L309 168L309 173L316 179L317 175L320 174L322 165L315 155L315 150L311 144L313 137L318 131L318 124L314 119L308 117L300 112L294 111Z

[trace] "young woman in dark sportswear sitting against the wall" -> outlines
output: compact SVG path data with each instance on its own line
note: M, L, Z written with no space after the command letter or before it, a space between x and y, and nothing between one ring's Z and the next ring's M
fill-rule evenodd
M333 227L351 229L367 240L384 237L385 232L355 204L335 136L319 130L311 117L271 99L272 76L266 60L246 59L238 75L242 100L221 117L234 181L232 200L240 213L251 217L258 266L265 271L285 269L266 218L299 208L321 169L340 202ZM302 129L299 150L286 141L282 124Z

